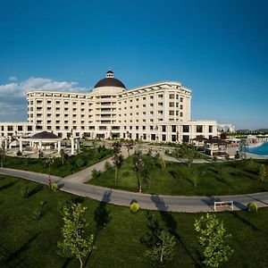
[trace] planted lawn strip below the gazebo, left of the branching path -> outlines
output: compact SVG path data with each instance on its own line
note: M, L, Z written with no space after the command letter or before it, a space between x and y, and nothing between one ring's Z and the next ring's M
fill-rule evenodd
M112 150L106 149L105 147L83 148L79 155L66 157L64 161L62 161L60 158L55 158L54 163L51 164L51 174L65 177L71 173L80 171L81 168L97 163L111 155ZM4 167L31 172L49 172L46 158L39 159L6 156L4 158Z

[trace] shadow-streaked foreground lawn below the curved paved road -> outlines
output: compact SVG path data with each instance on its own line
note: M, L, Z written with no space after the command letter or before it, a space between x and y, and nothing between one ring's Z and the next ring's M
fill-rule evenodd
M64 201L77 197L53 193L43 186L30 197L22 198L23 186L36 188L39 185L0 175L0 256L4 256L0 266L79 267L77 260L68 261L56 253L63 224L59 207ZM38 221L33 220L32 213L38 210L41 201L46 201L45 214ZM193 226L201 214L151 212L149 221L147 211L131 214L129 208L101 205L88 198L83 204L88 207L86 218L92 233L96 234L96 212L105 210L104 214L109 218L105 229L97 232L96 249L90 255L87 267L157 267L144 256L147 246L141 242L152 226L170 230L176 237L173 261L161 267L202 267L201 247ZM232 234L230 245L234 248L234 255L222 267L267 267L268 209L261 209L256 214L223 212L216 215Z

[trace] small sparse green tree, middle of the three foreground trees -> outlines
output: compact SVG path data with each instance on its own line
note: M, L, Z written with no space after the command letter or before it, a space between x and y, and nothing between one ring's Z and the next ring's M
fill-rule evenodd
M145 253L153 262L164 262L172 260L173 250L175 247L174 237L166 230L162 230L160 235L157 235L155 246L148 249Z

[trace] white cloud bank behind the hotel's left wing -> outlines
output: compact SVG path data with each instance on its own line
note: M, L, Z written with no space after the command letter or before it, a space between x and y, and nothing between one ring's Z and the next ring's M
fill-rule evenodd
M20 121L23 114L25 114L23 117L26 118L25 92L29 90L88 91L88 88L81 88L76 82L54 81L34 77L21 82L16 81L15 77L10 77L9 80L12 82L0 85L0 121Z

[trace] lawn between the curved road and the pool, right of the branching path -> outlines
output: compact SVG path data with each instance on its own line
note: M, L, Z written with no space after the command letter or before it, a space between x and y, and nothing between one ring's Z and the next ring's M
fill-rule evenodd
M151 156L144 156L151 157ZM156 193L174 196L212 196L255 193L268 190L268 178L262 182L259 178L261 163L268 170L267 162L243 161L229 163L187 164L167 162L162 170L160 166L149 168L150 188L143 182L144 193ZM114 182L114 169L104 172L88 183L108 188L121 188L138 191L137 173L133 170L133 155L125 159ZM197 174L197 187L191 178Z

